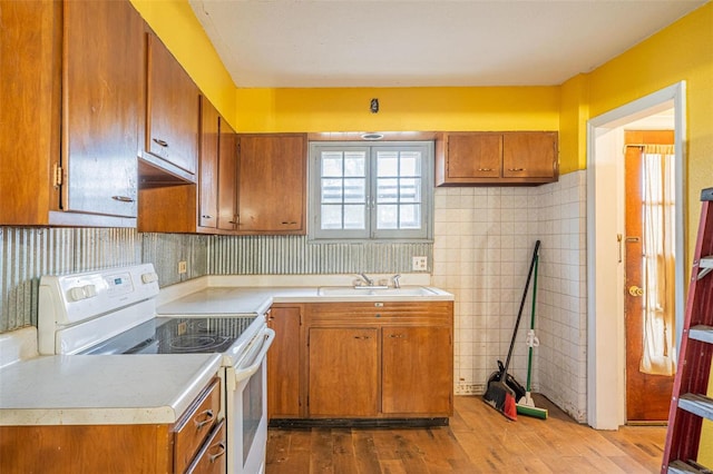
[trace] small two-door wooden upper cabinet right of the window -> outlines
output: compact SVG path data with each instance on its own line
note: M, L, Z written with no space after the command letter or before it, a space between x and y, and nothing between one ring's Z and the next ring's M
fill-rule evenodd
M556 131L443 132L436 186L540 185L559 177Z

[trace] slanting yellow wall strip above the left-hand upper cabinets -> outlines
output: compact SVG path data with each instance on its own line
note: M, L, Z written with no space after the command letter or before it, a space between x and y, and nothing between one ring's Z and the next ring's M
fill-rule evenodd
M235 127L235 83L186 0L130 0L201 91Z

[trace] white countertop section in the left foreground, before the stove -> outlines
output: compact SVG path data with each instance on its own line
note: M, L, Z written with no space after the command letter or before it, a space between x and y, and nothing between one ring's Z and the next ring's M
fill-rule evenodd
M41 356L0 373L0 425L172 424L219 354Z

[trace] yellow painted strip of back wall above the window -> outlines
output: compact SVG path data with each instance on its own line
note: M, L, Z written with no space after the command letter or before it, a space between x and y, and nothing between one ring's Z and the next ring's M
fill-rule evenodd
M557 130L559 87L238 89L237 113L256 132Z

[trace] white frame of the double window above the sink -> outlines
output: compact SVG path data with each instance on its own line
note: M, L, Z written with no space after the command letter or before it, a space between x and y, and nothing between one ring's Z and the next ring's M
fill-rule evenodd
M309 162L309 223L312 241L418 241L433 240L433 141L312 141ZM421 162L421 226L419 229L377 229L377 152L383 150L418 150ZM364 151L367 156L365 229L321 228L321 166L323 151Z

